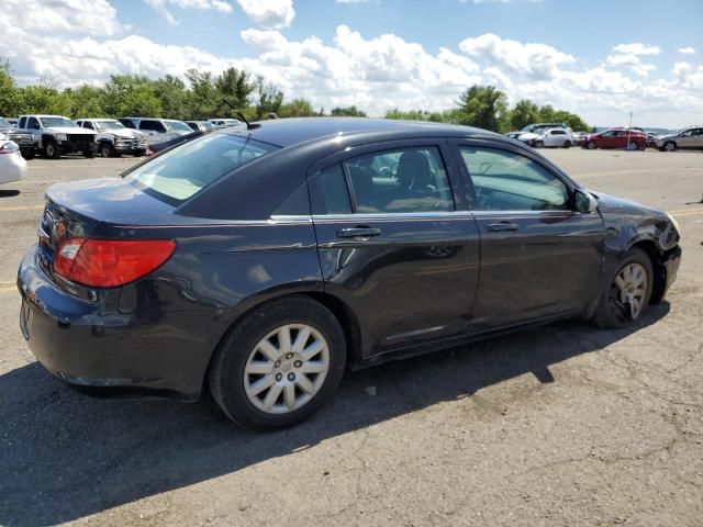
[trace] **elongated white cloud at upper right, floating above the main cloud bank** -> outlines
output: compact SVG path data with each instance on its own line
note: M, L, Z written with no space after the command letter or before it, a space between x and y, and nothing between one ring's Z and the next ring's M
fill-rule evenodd
M572 55L545 44L523 44L492 33L467 38L459 48L472 57L534 79L554 78L559 66L572 64Z

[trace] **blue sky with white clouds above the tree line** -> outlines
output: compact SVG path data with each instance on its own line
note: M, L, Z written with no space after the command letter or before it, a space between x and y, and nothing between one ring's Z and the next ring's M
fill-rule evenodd
M287 100L445 110L471 85L599 126L703 124L703 1L3 0L22 86L230 66Z

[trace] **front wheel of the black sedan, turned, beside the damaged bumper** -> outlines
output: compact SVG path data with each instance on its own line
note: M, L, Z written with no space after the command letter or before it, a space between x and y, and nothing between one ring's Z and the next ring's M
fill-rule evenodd
M652 277L651 260L647 254L633 248L601 294L593 323L602 328L617 328L637 321L649 305Z

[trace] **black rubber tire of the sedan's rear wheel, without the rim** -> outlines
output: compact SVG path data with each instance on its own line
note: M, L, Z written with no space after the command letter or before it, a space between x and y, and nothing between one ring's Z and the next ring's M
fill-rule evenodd
M245 367L259 340L286 324L306 324L324 337L330 350L330 369L319 391L303 406L284 414L271 414L249 401L244 386ZM210 392L225 415L246 428L284 428L304 421L332 400L342 381L346 358L346 340L337 318L312 299L289 296L256 307L233 326L211 360Z

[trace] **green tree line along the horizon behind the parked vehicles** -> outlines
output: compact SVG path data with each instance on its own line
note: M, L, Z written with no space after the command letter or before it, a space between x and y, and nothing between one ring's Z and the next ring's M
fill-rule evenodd
M275 85L237 68L227 68L221 75L190 69L186 81L171 75L158 79L112 75L102 86L82 83L58 90L52 78L40 78L32 86L18 86L10 63L0 60L2 116L25 113L72 119L143 115L186 121L237 117L237 112L247 120L267 119L271 114L278 117L366 116L355 105L333 108L325 113L324 108L315 109L303 98L288 101ZM386 119L465 124L501 133L535 122L567 123L574 131L588 130L580 116L548 104L539 106L524 99L510 108L505 93L493 86L471 86L459 94L454 108L442 112L393 109L386 112Z

